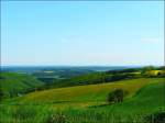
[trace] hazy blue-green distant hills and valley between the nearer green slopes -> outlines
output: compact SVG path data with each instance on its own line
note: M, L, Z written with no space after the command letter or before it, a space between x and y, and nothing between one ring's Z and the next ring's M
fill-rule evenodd
M77 76L91 74L94 71L107 71L124 69L122 66L2 66L1 70L7 72L28 74L36 77L47 86L55 80L69 79ZM74 86L74 85L73 85Z

